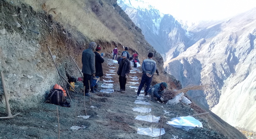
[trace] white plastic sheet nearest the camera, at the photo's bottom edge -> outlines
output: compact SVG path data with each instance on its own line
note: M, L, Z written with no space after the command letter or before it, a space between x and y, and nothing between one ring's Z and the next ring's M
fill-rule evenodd
M161 135L160 135L160 131L161 131ZM166 133L166 131L164 131L163 128L162 129L153 128L153 132L152 132L152 128L150 128L150 127L146 127L146 128L139 127L137 130L137 134L148 135L151 137L158 137L159 135L162 136L165 133Z

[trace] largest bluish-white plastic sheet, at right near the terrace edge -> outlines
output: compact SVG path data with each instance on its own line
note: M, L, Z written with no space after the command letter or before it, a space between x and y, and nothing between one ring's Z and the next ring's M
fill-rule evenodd
M171 121L167 121L166 124L183 129L185 131L188 131L189 129L193 129L195 127L203 128L202 123L192 116L175 117L172 118Z

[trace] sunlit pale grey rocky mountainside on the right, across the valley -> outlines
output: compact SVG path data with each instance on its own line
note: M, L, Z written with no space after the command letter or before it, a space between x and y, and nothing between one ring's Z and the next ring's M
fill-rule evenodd
M256 9L215 24L201 24L190 33L199 40L177 58L166 61L168 73L188 84L210 85L192 98L209 105L229 124L256 131ZM204 97L205 96L205 97Z

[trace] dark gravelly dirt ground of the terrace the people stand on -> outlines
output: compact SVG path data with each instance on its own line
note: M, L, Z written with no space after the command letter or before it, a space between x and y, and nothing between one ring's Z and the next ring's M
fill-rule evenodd
M107 71L117 71L118 64L111 63L111 59L105 58L102 64L104 76ZM141 79L142 73L130 74ZM113 78L113 89L119 90L118 75L111 75ZM178 103L177 105L164 105L151 101L151 105L135 104L135 90L129 86L131 80L128 77L126 93L98 93L89 97L83 96L82 83L76 90L80 93L70 92L72 98L71 107L60 107L57 105L44 103L38 107L20 111L21 113L13 119L0 119L0 139L56 139L58 137L58 115L60 121L60 138L62 139L152 139L151 136L137 134L139 127L164 128L165 134L162 139L243 139L245 138L239 131L231 127L221 119L216 119L214 114L196 116L202 122L204 128L190 129L184 131L166 124L171 118L176 116L188 116L197 114L190 105ZM138 80L140 82L140 80ZM102 79L101 79L102 83ZM100 84L101 85L101 84ZM99 86L100 86L99 85ZM138 86L138 85L136 85ZM103 89L103 88L102 88ZM77 98L77 101L75 99ZM69 98L67 98L70 102ZM148 98L147 100L148 101ZM85 104L85 106L84 106ZM93 107L92 107L93 106ZM154 116L162 116L159 123L150 123L135 120L137 115L148 115L133 111L134 107L153 108ZM90 115L89 119L78 117L80 115ZM12 113L16 113L13 111ZM149 115L152 115L150 112ZM6 116L0 114L0 117ZM218 118L218 117L217 117ZM161 125L162 123L162 125ZM84 127L80 130L71 130L72 126ZM229 130L229 131L228 131ZM225 135L224 135L225 134ZM159 138L159 137L153 137Z

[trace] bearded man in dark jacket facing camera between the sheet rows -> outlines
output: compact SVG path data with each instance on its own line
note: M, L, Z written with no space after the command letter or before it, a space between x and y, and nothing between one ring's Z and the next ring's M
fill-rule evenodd
M125 93L126 79L130 73L131 65L127 59L127 54L123 53L122 59L118 61L119 67L117 74L119 75L120 90L118 92Z

